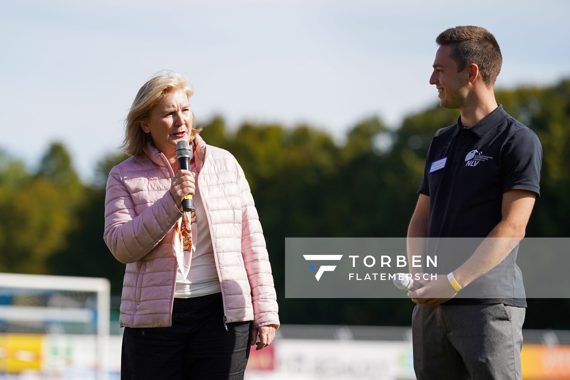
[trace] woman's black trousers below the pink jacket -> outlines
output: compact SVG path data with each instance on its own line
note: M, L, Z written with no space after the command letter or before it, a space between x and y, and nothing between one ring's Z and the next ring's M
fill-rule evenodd
M175 298L172 326L125 327L121 379L243 379L251 321L223 325L222 293Z

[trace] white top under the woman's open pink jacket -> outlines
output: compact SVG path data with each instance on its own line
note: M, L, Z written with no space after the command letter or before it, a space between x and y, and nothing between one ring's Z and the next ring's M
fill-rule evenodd
M174 289L174 297L176 298L207 296L222 291L218 271L215 268L210 226L197 182L195 191L196 193L192 198L198 226L196 227L196 234L192 235L192 243L196 250L184 252L185 255L192 255L188 276L184 278L180 266L176 271L176 288Z

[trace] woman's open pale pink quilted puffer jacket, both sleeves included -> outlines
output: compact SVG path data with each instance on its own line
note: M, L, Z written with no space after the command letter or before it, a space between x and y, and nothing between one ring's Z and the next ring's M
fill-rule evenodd
M250 187L227 150L195 140L196 171L210 224L222 288L224 321L253 320L253 327L279 325L265 239ZM149 157L131 157L113 167L105 196L103 238L127 264L120 325L172 325L177 260L174 224L182 213L170 195L172 167L152 145ZM223 328L223 327L222 327Z

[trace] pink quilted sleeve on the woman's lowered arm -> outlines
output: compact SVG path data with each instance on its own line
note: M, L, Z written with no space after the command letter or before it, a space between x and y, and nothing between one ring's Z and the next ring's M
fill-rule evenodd
M242 256L251 287L253 328L271 324L279 325L277 296L261 223L259 223L259 216L242 167L237 161L235 164L238 170L239 197L243 210Z

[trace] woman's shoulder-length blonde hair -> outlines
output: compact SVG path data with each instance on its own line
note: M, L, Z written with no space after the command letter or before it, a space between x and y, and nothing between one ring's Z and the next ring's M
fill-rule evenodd
M127 119L125 119L125 137L123 143L119 148L123 149L131 156L140 157L148 156L146 151L146 143L151 141L149 134L146 134L141 128L141 121L144 121L152 111L153 107L164 97L177 89L186 92L188 98L193 95L194 89L190 85L188 78L170 70L162 70L154 74L144 85L139 89ZM190 141L194 140L196 134L201 132L202 129L196 129L196 117L192 112L192 133L190 134Z

